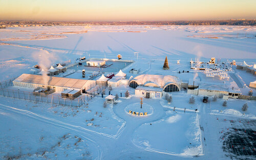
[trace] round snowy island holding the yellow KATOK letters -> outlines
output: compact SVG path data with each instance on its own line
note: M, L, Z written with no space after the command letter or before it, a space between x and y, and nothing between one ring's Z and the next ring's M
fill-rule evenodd
M153 107L147 103L143 103L142 108L140 108L140 103L132 103L127 105L124 111L131 116L146 117L153 114ZM133 113L135 113L135 115L133 115Z

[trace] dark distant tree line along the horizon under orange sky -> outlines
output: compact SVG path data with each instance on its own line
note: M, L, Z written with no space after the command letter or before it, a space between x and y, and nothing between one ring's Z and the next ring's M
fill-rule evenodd
M229 20L178 20L178 21L39 21L39 20L0 20L0 25L228 25L256 26L255 19Z

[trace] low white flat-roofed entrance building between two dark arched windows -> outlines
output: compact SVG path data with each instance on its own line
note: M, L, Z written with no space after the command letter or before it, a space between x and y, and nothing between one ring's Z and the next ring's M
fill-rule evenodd
M144 98L161 98L163 96L163 89L158 87L137 86L135 95Z

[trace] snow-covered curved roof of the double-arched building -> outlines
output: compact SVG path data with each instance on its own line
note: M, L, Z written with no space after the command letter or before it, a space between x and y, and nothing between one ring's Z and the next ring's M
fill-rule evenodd
M164 87L166 84L174 83L181 85L181 81L178 77L169 75L139 75L133 79L139 85L144 85L148 81L155 83L159 87Z

